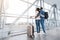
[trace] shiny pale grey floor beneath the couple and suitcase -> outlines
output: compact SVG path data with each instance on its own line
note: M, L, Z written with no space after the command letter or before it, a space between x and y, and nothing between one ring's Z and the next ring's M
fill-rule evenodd
M8 38L2 38L0 40L60 40L60 28L48 30L46 31L46 34L44 34L42 31L40 32L40 34L37 34L35 32L34 38L29 38L26 34L23 34Z

